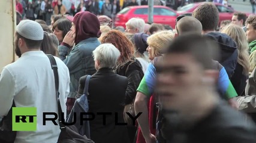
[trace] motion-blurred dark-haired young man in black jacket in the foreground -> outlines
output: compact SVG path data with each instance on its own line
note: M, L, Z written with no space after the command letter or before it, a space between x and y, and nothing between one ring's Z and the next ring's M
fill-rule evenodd
M184 42L186 41L186 42ZM165 116L167 143L252 143L256 126L222 102L216 92L219 45L200 34L177 37L158 63L156 93Z

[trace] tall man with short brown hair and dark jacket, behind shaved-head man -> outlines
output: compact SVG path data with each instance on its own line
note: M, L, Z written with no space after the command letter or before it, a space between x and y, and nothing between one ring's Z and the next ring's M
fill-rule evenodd
M205 2L193 11L192 17L197 18L201 22L203 34L210 36L220 44L222 51L221 58L217 61L225 67L228 77L231 79L237 64L237 45L230 36L215 31L219 23L218 8L212 3Z

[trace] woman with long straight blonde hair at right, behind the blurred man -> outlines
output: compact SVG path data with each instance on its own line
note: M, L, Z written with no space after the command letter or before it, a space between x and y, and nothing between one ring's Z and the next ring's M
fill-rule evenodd
M237 94L241 95L243 91L245 91L246 80L249 75L249 45L246 40L245 31L240 26L230 24L225 26L221 33L227 34L237 43L237 64L234 74L230 80L234 89L236 89Z

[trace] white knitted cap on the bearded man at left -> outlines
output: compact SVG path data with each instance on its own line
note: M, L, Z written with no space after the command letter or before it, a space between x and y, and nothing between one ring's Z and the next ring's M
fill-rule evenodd
M22 20L16 27L16 32L26 39L40 41L44 39L42 26L32 20Z

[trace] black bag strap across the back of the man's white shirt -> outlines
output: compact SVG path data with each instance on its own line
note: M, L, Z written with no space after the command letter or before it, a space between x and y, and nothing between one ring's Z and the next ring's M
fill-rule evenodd
M55 93L56 93L56 97L57 97L57 102L58 102L58 115L59 118L61 117L62 114L62 110L61 110L61 102L59 102L59 74L58 74L58 66L56 64L56 60L53 57L53 55L47 54L47 57L50 60L51 66L52 66L52 70L53 70L53 74L54 74L54 79L55 79ZM58 120L59 120L58 118ZM59 126L60 129L65 129L65 125L63 125L63 123L61 122L61 120L59 120Z

